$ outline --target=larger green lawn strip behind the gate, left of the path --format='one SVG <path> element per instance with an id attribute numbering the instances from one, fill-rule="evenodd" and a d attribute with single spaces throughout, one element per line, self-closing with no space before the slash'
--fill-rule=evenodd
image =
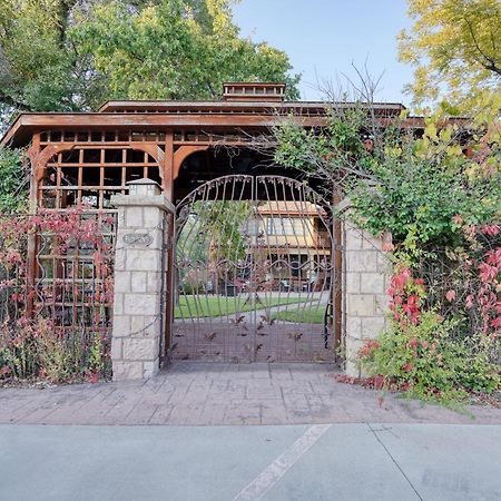
<path id="1" fill-rule="evenodd" d="M 181 296 L 179 304 L 174 310 L 176 318 L 209 317 L 230 315 L 237 312 L 249 312 L 250 310 L 262 310 L 281 304 L 304 303 L 306 298 L 297 297 L 264 297 L 263 303 L 245 303 L 243 297 L 222 296 Z"/>

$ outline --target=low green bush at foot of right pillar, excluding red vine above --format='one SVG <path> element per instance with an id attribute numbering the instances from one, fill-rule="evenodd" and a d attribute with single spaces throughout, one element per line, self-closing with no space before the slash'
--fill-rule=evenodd
<path id="1" fill-rule="evenodd" d="M 387 387 L 426 401 L 464 400 L 468 391 L 492 393 L 501 383 L 478 340 L 452 341 L 451 321 L 424 312 L 419 324 L 393 322 L 377 341 L 367 340 L 358 357 Z"/>

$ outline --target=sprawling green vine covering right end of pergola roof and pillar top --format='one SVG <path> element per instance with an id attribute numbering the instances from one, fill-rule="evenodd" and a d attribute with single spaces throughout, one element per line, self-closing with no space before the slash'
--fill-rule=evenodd
<path id="1" fill-rule="evenodd" d="M 327 110 L 327 126 L 305 130 L 287 120 L 275 128 L 275 161 L 348 196 L 358 226 L 373 235 L 391 232 L 400 257 L 433 259 L 438 248 L 464 244 L 464 225 L 501 219 L 501 128 L 498 109 L 471 120 L 443 112 L 424 120 L 422 134 L 406 116 L 384 121 L 371 105 Z"/>

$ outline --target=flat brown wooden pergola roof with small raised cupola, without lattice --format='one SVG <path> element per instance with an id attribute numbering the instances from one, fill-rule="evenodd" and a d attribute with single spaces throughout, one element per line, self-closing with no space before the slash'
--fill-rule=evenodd
<path id="1" fill-rule="evenodd" d="M 225 84 L 218 101 L 115 100 L 105 102 L 97 112 L 23 112 L 0 145 L 23 146 L 33 132 L 45 130 L 266 129 L 285 116 L 293 116 L 304 127 L 322 127 L 327 108 L 355 107 L 354 102 L 285 101 L 284 96 L 283 84 L 232 82 Z M 377 102 L 373 107 L 383 122 L 405 109 L 397 102 Z M 409 127 L 423 126 L 420 118 L 407 121 Z"/>

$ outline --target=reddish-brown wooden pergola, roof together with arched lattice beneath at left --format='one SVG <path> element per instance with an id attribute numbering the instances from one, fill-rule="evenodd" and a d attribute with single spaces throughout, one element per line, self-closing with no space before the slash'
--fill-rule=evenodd
<path id="1" fill-rule="evenodd" d="M 403 109 L 374 105 L 383 124 Z M 176 185 L 190 157 L 205 155 L 207 161 L 207 153 L 222 144 L 243 149 L 289 116 L 306 128 L 322 127 L 326 104 L 284 101 L 279 84 L 227 84 L 220 101 L 109 101 L 97 112 L 21 114 L 0 145 L 29 146 L 37 207 L 60 210 L 85 202 L 102 210 L 112 194 L 126 193 L 128 181 L 143 177 L 158 181 L 170 202 L 179 199 L 190 190 L 189 171 Z M 421 128 L 423 121 L 411 118 L 405 125 Z M 204 180 L 210 170 L 229 174 L 224 167 L 206 170 Z"/>

